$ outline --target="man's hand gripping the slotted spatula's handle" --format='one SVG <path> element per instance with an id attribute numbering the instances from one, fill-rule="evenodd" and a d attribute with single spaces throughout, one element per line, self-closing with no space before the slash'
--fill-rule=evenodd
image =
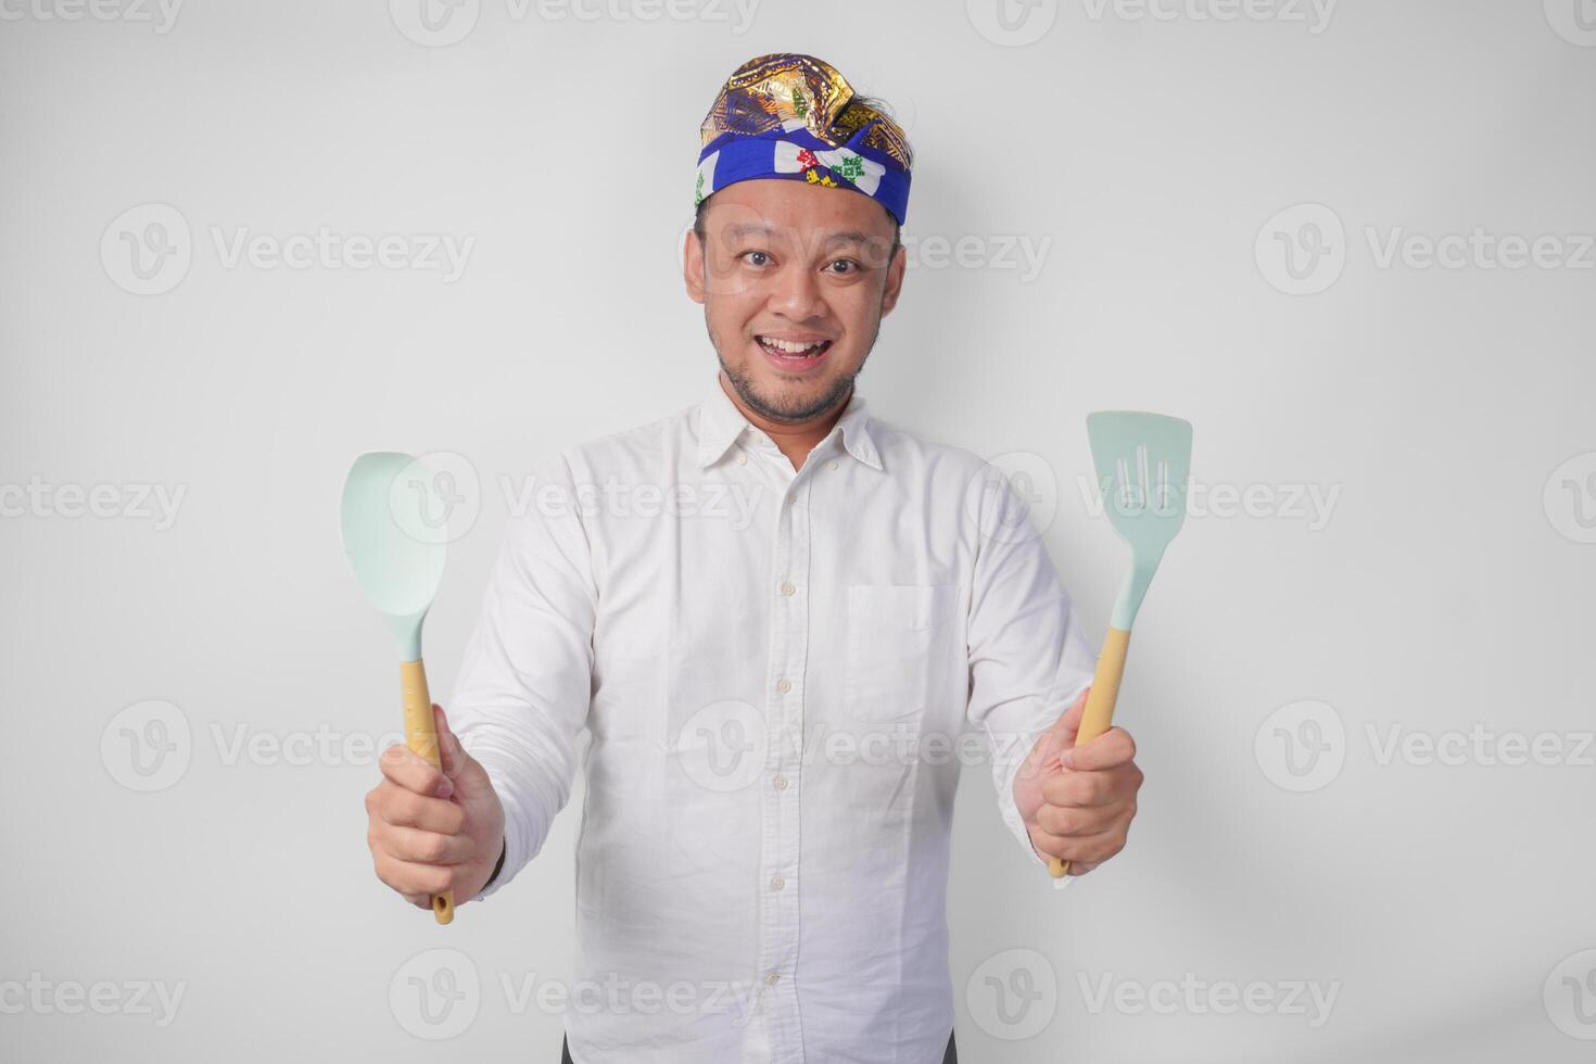
<path id="1" fill-rule="evenodd" d="M 1031 845 L 1044 858 L 1069 861 L 1069 874 L 1082 876 L 1125 849 L 1130 822 L 1136 817 L 1136 743 L 1130 732 L 1111 727 L 1076 747 L 1082 691 L 1058 723 L 1036 740 L 1013 777 Z"/>

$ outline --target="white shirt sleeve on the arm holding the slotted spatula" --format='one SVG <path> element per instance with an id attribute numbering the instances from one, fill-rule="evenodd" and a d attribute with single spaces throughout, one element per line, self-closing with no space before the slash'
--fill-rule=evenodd
<path id="1" fill-rule="evenodd" d="M 1036 740 L 1092 683 L 1095 654 L 1028 506 L 986 466 L 974 482 L 977 552 L 967 622 L 969 719 L 983 731 L 1004 823 L 1034 863 L 1013 778 Z M 1063 890 L 1074 876 L 1053 881 Z"/>

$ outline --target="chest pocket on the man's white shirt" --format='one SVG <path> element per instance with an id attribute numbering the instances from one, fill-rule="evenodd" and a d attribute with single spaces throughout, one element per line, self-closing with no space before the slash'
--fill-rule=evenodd
<path id="1" fill-rule="evenodd" d="M 954 584 L 854 584 L 847 589 L 843 705 L 859 721 L 924 715 L 958 649 Z"/>

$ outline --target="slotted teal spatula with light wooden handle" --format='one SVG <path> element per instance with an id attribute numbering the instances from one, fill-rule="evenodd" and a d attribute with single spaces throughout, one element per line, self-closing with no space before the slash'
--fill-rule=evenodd
<path id="1" fill-rule="evenodd" d="M 1098 410 L 1087 415 L 1092 464 L 1103 491 L 1103 512 L 1120 539 L 1130 544 L 1130 571 L 1119 585 L 1114 616 L 1098 654 L 1092 692 L 1080 711 L 1076 745 L 1090 742 L 1114 723 L 1114 702 L 1125 673 L 1130 625 L 1159 569 L 1163 549 L 1186 520 L 1186 480 L 1192 464 L 1191 421 L 1160 413 Z M 1069 861 L 1047 863 L 1053 879 Z"/>

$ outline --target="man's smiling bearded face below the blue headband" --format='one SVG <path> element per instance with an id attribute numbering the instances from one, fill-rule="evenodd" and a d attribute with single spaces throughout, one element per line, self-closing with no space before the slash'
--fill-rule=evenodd
<path id="1" fill-rule="evenodd" d="M 688 295 L 742 400 L 772 421 L 841 402 L 897 303 L 892 219 L 846 188 L 764 179 L 721 188 L 688 234 Z"/>

